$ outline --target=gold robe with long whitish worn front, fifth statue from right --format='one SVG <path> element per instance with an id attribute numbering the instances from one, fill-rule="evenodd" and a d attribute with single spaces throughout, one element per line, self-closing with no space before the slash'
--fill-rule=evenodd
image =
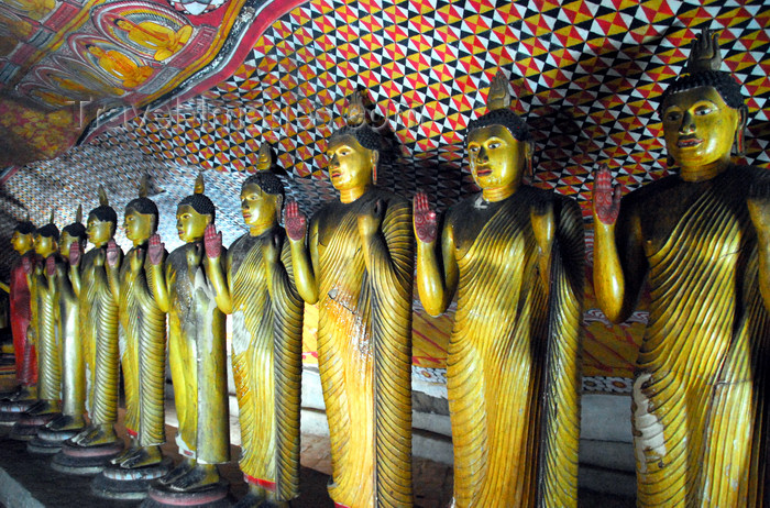
<path id="1" fill-rule="evenodd" d="M 202 245 L 198 245 L 202 253 Z M 224 314 L 217 308 L 202 264 L 188 264 L 188 243 L 166 259 L 168 361 L 174 384 L 179 452 L 201 464 L 230 460 Z M 205 254 L 202 254 L 205 255 Z"/>

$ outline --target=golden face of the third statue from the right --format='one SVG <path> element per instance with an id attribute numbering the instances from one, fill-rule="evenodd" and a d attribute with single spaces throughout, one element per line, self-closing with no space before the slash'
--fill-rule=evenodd
<path id="1" fill-rule="evenodd" d="M 329 178 L 337 190 L 350 190 L 372 184 L 378 154 L 361 146 L 352 135 L 338 137 L 327 148 Z"/>

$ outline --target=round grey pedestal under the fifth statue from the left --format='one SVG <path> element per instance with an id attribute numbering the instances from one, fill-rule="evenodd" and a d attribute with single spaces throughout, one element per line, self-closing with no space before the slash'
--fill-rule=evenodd
<path id="1" fill-rule="evenodd" d="M 160 464 L 135 468 L 110 464 L 91 482 L 91 493 L 108 499 L 144 499 L 150 485 L 173 466 L 169 457 L 164 457 Z"/>

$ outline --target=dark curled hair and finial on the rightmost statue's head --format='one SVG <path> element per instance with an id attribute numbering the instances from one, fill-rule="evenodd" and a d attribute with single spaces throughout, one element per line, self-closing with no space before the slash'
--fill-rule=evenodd
<path id="1" fill-rule="evenodd" d="M 719 70 L 721 65 L 719 34 L 713 30 L 704 29 L 692 42 L 688 64 L 684 67 L 685 74 L 679 76 L 660 96 L 658 113 L 662 113 L 663 108 L 674 93 L 700 87 L 714 88 L 725 104 L 737 110 L 744 119 L 744 124 L 739 126 L 734 144 L 737 153 L 743 154 L 745 119 L 748 113 L 746 98 L 733 75 Z"/>

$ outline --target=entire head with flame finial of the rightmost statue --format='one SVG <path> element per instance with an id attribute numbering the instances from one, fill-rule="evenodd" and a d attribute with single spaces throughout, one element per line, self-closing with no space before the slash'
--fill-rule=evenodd
<path id="1" fill-rule="evenodd" d="M 685 74 L 671 84 L 660 100 L 663 137 L 669 163 L 682 177 L 726 168 L 730 152 L 744 152 L 747 108 L 740 85 L 719 70 L 718 35 L 710 30 L 693 41 Z"/>

